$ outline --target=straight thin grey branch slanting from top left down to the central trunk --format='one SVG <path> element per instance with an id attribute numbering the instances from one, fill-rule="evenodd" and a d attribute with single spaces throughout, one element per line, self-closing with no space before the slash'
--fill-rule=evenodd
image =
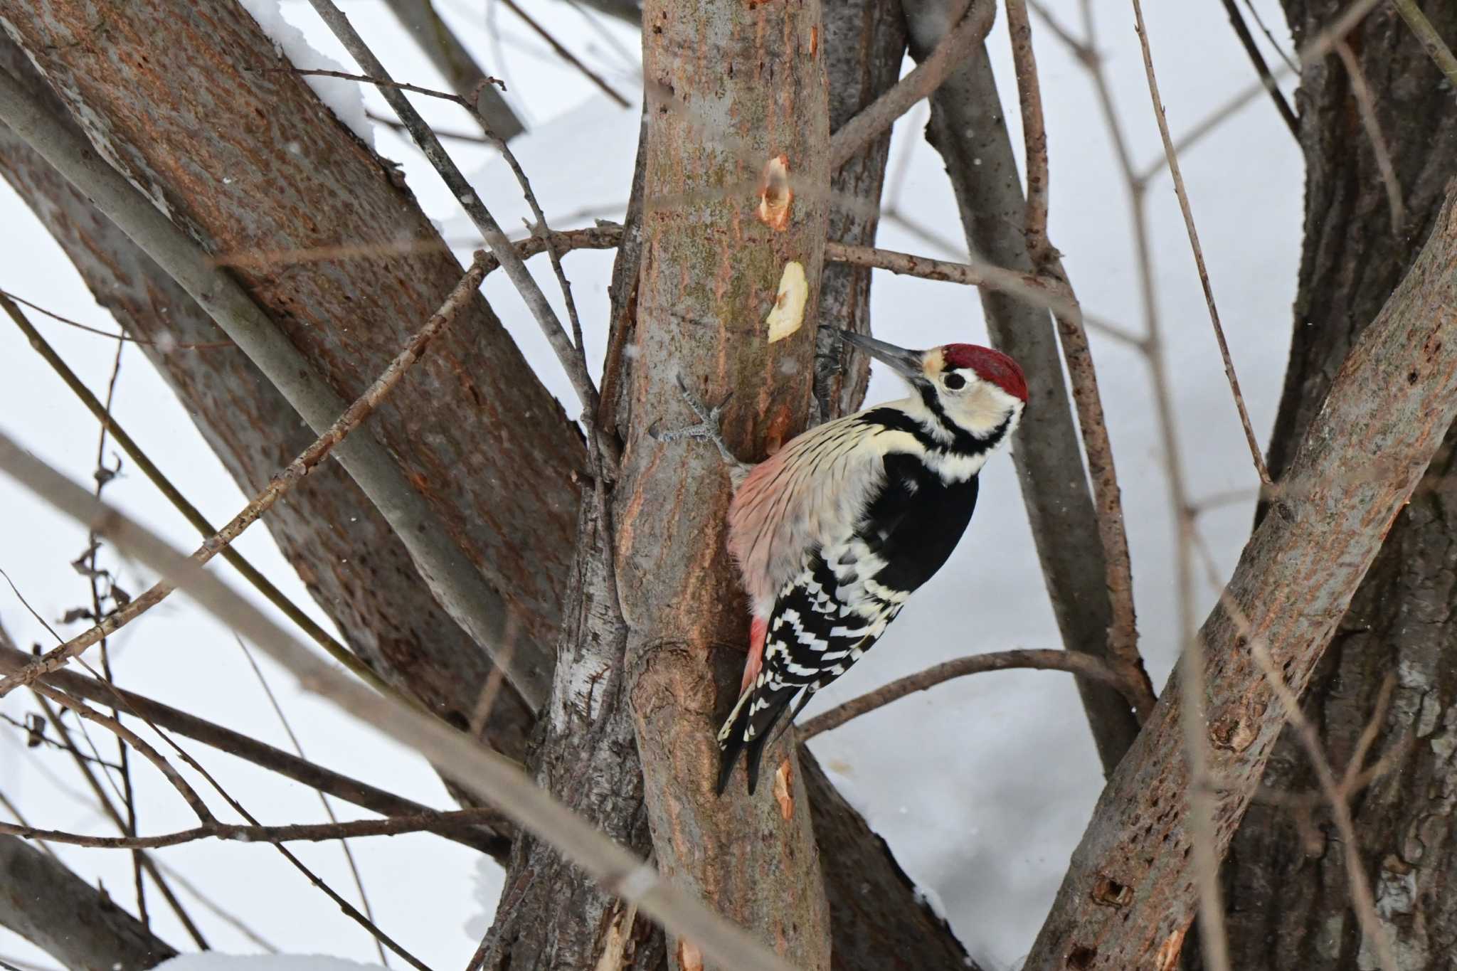
<path id="1" fill-rule="evenodd" d="M 366 74 L 372 79 L 372 83 L 380 80 L 389 82 L 389 71 L 380 64 L 374 52 L 364 44 L 364 39 L 358 32 L 350 25 L 348 17 L 344 12 L 334 3 L 334 0 L 309 0 L 313 9 L 318 12 L 319 17 L 328 25 L 334 36 L 339 39 L 344 49 L 350 52 L 360 67 L 364 68 Z M 444 181 L 446 186 L 456 197 L 460 205 L 465 208 L 471 221 L 481 231 L 481 237 L 490 247 L 491 253 L 501 262 L 501 268 L 506 275 L 511 278 L 516 285 L 517 293 L 526 303 L 526 307 L 532 312 L 536 323 L 541 326 L 542 333 L 546 336 L 546 342 L 552 345 L 552 351 L 557 354 L 558 362 L 567 371 L 567 377 L 571 379 L 573 390 L 577 392 L 577 397 L 583 408 L 592 412 L 597 411 L 597 389 L 592 383 L 592 374 L 581 367 L 577 355 L 571 346 L 571 339 L 567 336 L 565 328 L 562 328 L 561 320 L 557 317 L 557 312 L 551 309 L 551 303 L 546 301 L 546 294 L 536 284 L 530 271 L 526 269 L 526 263 L 511 247 L 511 242 L 501 231 L 500 224 L 497 224 L 495 217 L 491 215 L 490 210 L 481 202 L 481 197 L 476 195 L 475 189 L 460 173 L 460 169 L 450 159 L 450 154 L 440 144 L 440 140 L 425 124 L 425 119 L 420 116 L 409 99 L 405 98 L 402 92 L 392 86 L 380 86 L 380 93 L 389 106 L 395 109 L 399 115 L 399 121 L 404 122 L 405 128 L 409 131 L 409 137 L 414 138 L 415 144 L 424 153 L 430 165 L 434 166 L 436 172 Z"/>

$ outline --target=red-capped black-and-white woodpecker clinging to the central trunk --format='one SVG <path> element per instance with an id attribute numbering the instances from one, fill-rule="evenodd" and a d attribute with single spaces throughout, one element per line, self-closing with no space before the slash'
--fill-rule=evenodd
<path id="1" fill-rule="evenodd" d="M 734 492 L 728 552 L 753 620 L 742 693 L 718 732 L 720 795 L 745 751 L 753 793 L 769 732 L 796 696 L 787 724 L 946 563 L 972 518 L 978 473 L 1027 403 L 1021 368 L 1000 351 L 908 351 L 841 333 L 911 395 L 806 431 Z"/>

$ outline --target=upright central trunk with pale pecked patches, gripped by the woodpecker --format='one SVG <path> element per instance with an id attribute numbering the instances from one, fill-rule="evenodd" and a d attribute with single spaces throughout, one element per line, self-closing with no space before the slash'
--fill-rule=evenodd
<path id="1" fill-rule="evenodd" d="M 724 552 L 728 477 L 711 448 L 645 431 L 685 424 L 676 386 L 718 402 L 752 460 L 804 427 L 814 333 L 769 344 L 763 320 L 787 262 L 817 320 L 828 230 L 829 116 L 817 0 L 643 10 L 648 100 L 644 253 L 624 393 L 631 419 L 616 491 L 618 578 L 648 820 L 660 869 L 806 971 L 829 967 L 829 916 L 810 814 L 785 820 L 736 776 L 712 792 L 718 724 L 737 694 L 747 616 Z M 813 48 L 813 49 L 812 49 Z M 758 218 L 766 159 L 785 156 L 782 230 Z M 771 764 L 794 760 L 779 742 Z M 804 783 L 793 773 L 793 796 Z M 670 954 L 680 954 L 670 942 Z"/>

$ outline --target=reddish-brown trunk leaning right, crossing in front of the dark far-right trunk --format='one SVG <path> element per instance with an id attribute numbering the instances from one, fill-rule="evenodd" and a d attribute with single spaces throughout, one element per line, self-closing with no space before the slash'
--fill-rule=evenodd
<path id="1" fill-rule="evenodd" d="M 1294 691 L 1304 690 L 1387 530 L 1457 416 L 1457 195 L 1311 421 L 1285 498 L 1256 530 L 1227 594 Z M 1380 459 L 1383 475 L 1361 475 Z M 1234 834 L 1285 724 L 1240 625 L 1217 609 L 1199 638 L 1208 686 L 1217 852 Z M 1177 677 L 1177 673 L 1176 673 Z M 1109 780 L 1029 971 L 1152 964 L 1196 905 L 1177 691 Z M 1241 737 L 1238 745 L 1221 740 Z M 1109 905 L 1097 888 L 1131 889 Z"/>

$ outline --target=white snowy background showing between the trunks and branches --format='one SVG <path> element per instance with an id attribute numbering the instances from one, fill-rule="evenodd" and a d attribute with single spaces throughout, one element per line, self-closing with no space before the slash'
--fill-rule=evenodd
<path id="1" fill-rule="evenodd" d="M 348 64 L 303 0 L 248 0 L 299 66 Z M 1078 4 L 1049 0 L 1077 32 Z M 1177 135 L 1193 127 L 1253 79 L 1224 12 L 1214 3 L 1147 4 L 1155 64 Z M 1289 51 L 1289 36 L 1273 0 L 1257 9 Z M 592 217 L 621 217 L 637 138 L 637 112 L 622 111 L 580 74 L 565 67 L 504 7 L 468 0 L 436 0 L 436 7 L 472 48 L 476 60 L 504 77 L 513 106 L 530 131 L 514 143 L 536 192 L 557 227 L 590 224 Z M 1100 47 L 1107 57 L 1113 96 L 1138 165 L 1161 156 L 1150 109 L 1132 13 L 1123 0 L 1094 3 Z M 638 38 L 581 9 L 541 0 L 533 12 L 568 47 L 596 66 L 629 98 L 641 86 Z M 444 83 L 401 35 L 383 4 L 347 4 L 353 22 L 395 77 L 427 86 Z M 494 19 L 494 35 L 487 19 Z M 1141 329 L 1136 265 L 1128 201 L 1085 71 L 1048 28 L 1033 20 L 1042 67 L 1043 100 L 1052 159 L 1052 239 L 1084 307 Z M 299 33 L 302 32 L 302 35 Z M 300 42 L 306 38 L 306 42 Z M 1265 41 L 1262 39 L 1262 44 Z M 310 45 L 318 54 L 310 52 Z M 1016 87 L 1005 25 L 989 39 L 1013 141 L 1020 153 Z M 1266 57 L 1276 55 L 1266 45 Z M 360 112 L 389 116 L 376 92 L 325 82 L 331 106 L 356 127 Z M 469 131 L 455 106 L 415 99 L 443 128 Z M 965 258 L 960 226 L 938 156 L 925 144 L 925 109 L 896 127 L 892 181 L 896 204 L 908 217 L 944 236 L 938 250 L 896 226 L 883 226 L 880 245 L 943 258 Z M 379 151 L 401 162 L 425 210 L 452 242 L 471 245 L 469 223 L 434 172 L 390 130 L 373 127 Z M 514 182 L 490 151 L 450 143 L 474 173 L 481 198 L 503 226 L 526 214 Z M 1183 159 L 1215 296 L 1234 361 L 1262 440 L 1268 437 L 1289 344 L 1291 300 L 1300 249 L 1301 163 L 1294 140 L 1263 96 L 1252 100 Z M 246 179 L 246 172 L 236 173 Z M 1186 473 L 1196 496 L 1254 485 L 1247 448 L 1220 367 L 1199 282 L 1171 183 L 1158 176 L 1151 189 L 1154 258 L 1160 310 L 1169 336 Z M 462 253 L 466 250 L 463 249 Z M 584 313 L 587 342 L 600 355 L 605 338 L 610 253 L 574 253 L 567 269 Z M 533 263 L 548 294 L 555 293 L 545 262 Z M 102 329 L 115 329 L 70 262 L 25 204 L 0 183 L 0 287 Z M 564 402 L 570 386 L 536 325 L 500 274 L 485 287 L 497 313 Z M 876 275 L 874 326 L 881 338 L 908 346 L 947 341 L 983 341 L 976 294 L 953 284 Z M 31 314 L 47 339 L 98 393 L 105 393 L 115 344 Z M 1155 686 L 1173 659 L 1173 543 L 1167 514 L 1163 456 L 1144 361 L 1129 348 L 1093 335 L 1103 400 L 1116 451 L 1139 611 L 1142 649 Z M 185 352 L 185 351 L 179 351 Z M 898 396 L 893 379 L 877 374 L 870 399 Z M 568 411 L 573 411 L 568 405 Z M 1033 403 L 1036 408 L 1036 403 Z M 224 521 L 246 501 L 203 443 L 189 416 L 143 355 L 124 352 L 114 412 L 141 447 L 213 521 Z M 89 482 L 95 467 L 96 422 L 74 400 L 19 332 L 0 322 L 0 428 L 35 454 Z M 108 447 L 108 459 L 112 448 Z M 529 483 L 523 483 L 529 486 Z M 130 463 L 106 498 L 141 517 L 179 547 L 195 534 L 136 473 Z M 1247 536 L 1253 499 L 1202 517 L 1221 569 L 1233 566 Z M 85 547 L 85 531 L 45 504 L 0 479 L 0 569 L 31 606 L 63 636 L 79 625 L 58 625 L 68 607 L 89 600 L 86 582 L 68 562 Z M 255 527 L 242 550 L 296 603 L 325 625 L 303 585 L 268 537 Z M 122 585 L 137 592 L 150 576 L 106 553 Z M 233 585 L 252 594 L 230 568 Z M 1214 592 L 1201 590 L 1201 616 Z M 29 648 L 54 643 L 9 588 L 0 587 L 0 620 Z M 1058 646 L 1027 530 L 1011 461 L 1002 456 L 983 473 L 981 508 L 949 566 L 927 585 L 887 633 L 881 646 L 822 693 L 809 715 L 890 678 L 978 651 Z M 114 639 L 119 681 L 137 691 L 197 712 L 287 747 L 267 699 L 239 645 L 224 627 L 184 598 L 172 598 Z M 364 725 L 310 700 L 291 680 L 262 659 L 306 754 L 326 766 L 436 805 L 452 805 L 439 779 L 411 753 Z M 23 719 L 32 702 L 15 693 L 0 712 Z M 96 735 L 93 732 L 93 735 Z M 102 754 L 109 737 L 96 735 Z M 185 744 L 185 742 L 184 742 Z M 1016 967 L 1036 933 L 1101 786 L 1101 773 L 1072 681 L 1059 673 L 983 674 L 937 687 L 868 715 L 813 742 L 814 751 L 870 824 L 881 831 L 905 869 L 944 908 L 967 948 L 989 968 Z M 265 823 L 322 820 L 316 795 L 203 745 L 188 745 L 220 782 Z M 182 828 L 189 814 L 149 767 L 136 772 L 149 833 Z M 68 830 L 106 833 L 68 756 L 31 750 L 23 735 L 0 724 L 0 792 L 29 821 Z M 214 801 L 216 802 L 216 801 Z M 339 806 L 344 818 L 360 811 Z M 431 836 L 398 836 L 353 843 L 377 923 L 434 968 L 463 967 L 485 929 L 500 891 L 501 872 L 471 850 Z M 293 844 L 310 866 L 344 895 L 354 888 L 338 844 Z M 58 846 L 55 850 L 87 879 L 101 882 L 131 907 L 127 855 Z M 823 847 L 833 853 L 835 847 Z M 200 888 L 217 907 L 243 922 L 272 946 L 290 954 L 334 955 L 376 962 L 374 945 L 268 846 L 192 843 L 156 853 Z M 189 940 L 156 892 L 153 927 L 166 940 Z M 184 891 L 184 900 L 214 948 L 255 954 L 259 945 Z M 0 959 L 22 968 L 55 962 L 0 930 Z M 399 965 L 392 958 L 393 965 Z M 226 962 L 182 959 L 178 971 L 227 971 Z M 281 965 L 280 965 L 281 967 Z M 293 965 L 290 965 L 293 967 Z M 335 962 L 332 971 L 339 971 Z M 287 970 L 286 970 L 287 971 Z M 299 964 L 294 971 L 328 971 Z"/>

